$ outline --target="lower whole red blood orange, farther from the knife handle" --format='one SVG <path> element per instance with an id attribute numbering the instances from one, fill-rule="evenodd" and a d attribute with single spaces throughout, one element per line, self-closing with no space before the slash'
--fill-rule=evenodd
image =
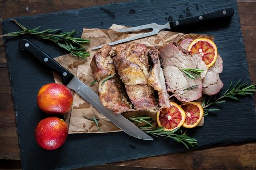
<path id="1" fill-rule="evenodd" d="M 49 117 L 41 120 L 35 130 L 37 143 L 44 149 L 59 148 L 67 139 L 68 126 L 63 119 Z"/>

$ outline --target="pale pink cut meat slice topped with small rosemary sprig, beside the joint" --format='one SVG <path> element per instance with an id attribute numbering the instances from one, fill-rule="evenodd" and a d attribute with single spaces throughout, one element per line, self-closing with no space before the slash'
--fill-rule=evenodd
<path id="1" fill-rule="evenodd" d="M 199 54 L 187 55 L 180 51 L 174 44 L 170 43 L 163 47 L 160 52 L 160 59 L 167 84 L 167 90 L 174 93 L 174 96 L 183 102 L 190 102 L 202 96 L 202 79 L 191 79 L 179 68 L 199 68 L 205 70 L 201 77 L 205 77 L 207 67 Z M 198 85 L 196 88 L 186 90 L 189 87 Z"/>

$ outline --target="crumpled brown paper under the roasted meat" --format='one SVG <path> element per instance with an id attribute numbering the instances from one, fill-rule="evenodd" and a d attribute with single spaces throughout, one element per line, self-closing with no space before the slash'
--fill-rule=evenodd
<path id="1" fill-rule="evenodd" d="M 87 59 L 82 59 L 78 57 L 73 57 L 70 54 L 59 56 L 55 58 L 64 68 L 67 68 L 75 76 L 77 76 L 81 81 L 86 85 L 89 85 L 94 77 L 91 72 L 90 63 L 92 60 L 95 51 L 92 51 L 91 48 L 117 41 L 119 39 L 135 36 L 148 32 L 149 30 L 136 31 L 132 33 L 118 33 L 113 30 L 122 29 L 125 26 L 112 25 L 110 29 L 83 29 L 82 38 L 90 39 L 90 44 L 86 45 L 88 51 L 90 52 L 90 57 Z M 162 48 L 164 45 L 173 42 L 178 44 L 185 38 L 209 38 L 213 40 L 212 36 L 201 35 L 201 34 L 183 34 L 170 31 L 160 31 L 158 35 L 141 38 L 135 40 L 137 43 L 146 44 L 147 47 L 158 46 L 158 49 Z M 127 42 L 130 44 L 131 42 Z M 115 47 L 115 46 L 113 46 Z M 61 83 L 60 77 L 54 73 L 54 79 L 57 83 Z M 91 86 L 92 90 L 98 93 L 98 83 Z M 132 115 L 143 115 L 147 114 L 151 118 L 155 119 L 155 113 L 148 113 L 142 111 L 135 111 L 130 113 L 124 113 L 123 115 L 127 118 Z M 105 118 L 101 113 L 94 109 L 88 102 L 82 99 L 78 94 L 74 93 L 74 102 L 72 106 L 71 113 L 65 115 L 65 121 L 69 124 L 69 133 L 98 133 L 98 128 L 94 121 L 91 121 L 93 116 L 98 120 L 98 125 L 100 127 L 100 132 L 116 132 L 120 131 L 113 123 L 111 123 L 107 118 Z M 88 119 L 86 119 L 88 118 Z"/>

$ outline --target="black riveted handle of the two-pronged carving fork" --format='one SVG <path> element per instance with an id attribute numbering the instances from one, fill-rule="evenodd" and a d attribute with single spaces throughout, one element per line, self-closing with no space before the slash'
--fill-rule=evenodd
<path id="1" fill-rule="evenodd" d="M 233 8 L 223 8 L 217 11 L 205 13 L 199 16 L 195 17 L 186 17 L 182 18 L 179 20 L 174 20 L 170 22 L 170 27 L 178 27 L 178 26 L 183 26 L 183 25 L 188 25 L 188 24 L 194 24 L 197 22 L 202 22 L 202 21 L 207 21 L 211 19 L 217 19 L 217 18 L 222 18 L 222 17 L 231 17 L 234 14 Z"/>

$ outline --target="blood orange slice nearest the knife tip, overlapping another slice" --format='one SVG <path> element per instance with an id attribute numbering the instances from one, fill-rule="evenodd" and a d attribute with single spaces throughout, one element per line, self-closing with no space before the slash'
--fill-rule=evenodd
<path id="1" fill-rule="evenodd" d="M 159 127 L 164 127 L 165 131 L 172 131 L 181 127 L 185 121 L 184 110 L 174 102 L 170 102 L 169 108 L 164 108 L 157 113 L 157 123 Z"/>

